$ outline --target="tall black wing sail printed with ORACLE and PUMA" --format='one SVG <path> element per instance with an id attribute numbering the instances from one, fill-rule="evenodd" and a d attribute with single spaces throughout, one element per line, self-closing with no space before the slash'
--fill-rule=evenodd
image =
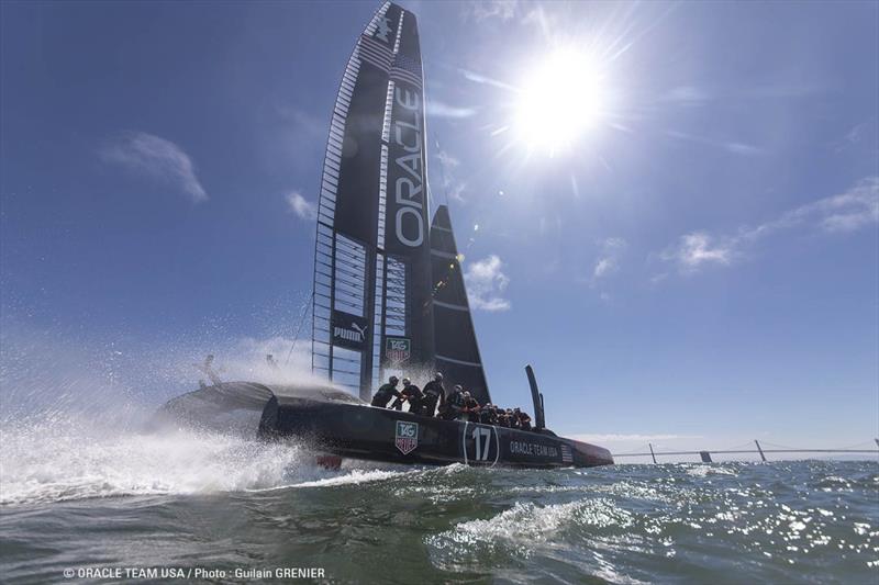
<path id="1" fill-rule="evenodd" d="M 361 398 L 433 367 L 423 88 L 415 16 L 388 2 L 342 78 L 314 247 L 312 370 Z"/>

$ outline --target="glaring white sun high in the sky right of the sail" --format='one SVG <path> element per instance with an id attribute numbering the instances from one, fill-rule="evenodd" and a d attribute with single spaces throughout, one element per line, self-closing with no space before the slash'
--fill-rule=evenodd
<path id="1" fill-rule="evenodd" d="M 555 50 L 519 87 L 516 137 L 530 150 L 555 155 L 594 128 L 604 108 L 604 75 L 596 60 L 576 49 Z"/>

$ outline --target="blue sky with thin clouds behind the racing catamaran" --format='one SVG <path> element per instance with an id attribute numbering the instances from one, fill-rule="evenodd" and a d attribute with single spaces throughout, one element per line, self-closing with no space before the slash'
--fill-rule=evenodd
<path id="1" fill-rule="evenodd" d="M 401 4 L 496 403 L 532 363 L 548 425 L 616 452 L 870 447 L 879 4 Z M 287 351 L 378 5 L 0 4 L 5 408 L 80 375 L 158 404 L 203 352 Z M 600 99 L 538 92 L 525 132 L 559 50 Z"/>

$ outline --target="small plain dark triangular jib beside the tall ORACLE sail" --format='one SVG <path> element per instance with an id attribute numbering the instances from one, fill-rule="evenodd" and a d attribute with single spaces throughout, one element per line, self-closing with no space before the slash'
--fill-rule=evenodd
<path id="1" fill-rule="evenodd" d="M 491 402 L 445 205 L 436 210 L 431 224 L 431 263 L 436 369 L 443 372 L 448 389 L 460 384 L 479 404 Z"/>

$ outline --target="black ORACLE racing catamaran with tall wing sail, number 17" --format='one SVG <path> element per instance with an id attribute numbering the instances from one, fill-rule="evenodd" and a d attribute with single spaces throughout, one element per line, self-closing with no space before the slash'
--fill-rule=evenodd
<path id="1" fill-rule="evenodd" d="M 325 384 L 215 380 L 168 402 L 176 418 L 315 452 L 396 463 L 525 468 L 612 464 L 546 428 L 526 368 L 533 430 L 379 408 L 385 379 L 444 374 L 491 402 L 446 205 L 430 218 L 424 76 L 412 12 L 385 3 L 348 58 L 330 122 L 318 204 L 312 370 Z"/>

